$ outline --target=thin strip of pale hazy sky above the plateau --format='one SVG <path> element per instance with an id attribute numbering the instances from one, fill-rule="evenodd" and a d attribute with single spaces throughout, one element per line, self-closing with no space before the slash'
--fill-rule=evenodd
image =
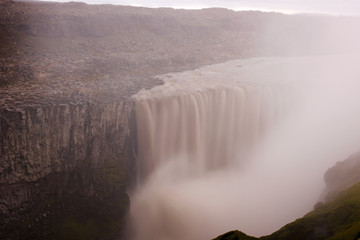
<path id="1" fill-rule="evenodd" d="M 54 1 L 54 0 L 51 0 Z M 67 1 L 67 0 L 60 0 Z M 209 8 L 223 7 L 234 10 L 263 10 L 285 13 L 326 13 L 335 15 L 360 15 L 360 0 L 73 0 L 86 3 L 111 3 L 118 5 Z"/>

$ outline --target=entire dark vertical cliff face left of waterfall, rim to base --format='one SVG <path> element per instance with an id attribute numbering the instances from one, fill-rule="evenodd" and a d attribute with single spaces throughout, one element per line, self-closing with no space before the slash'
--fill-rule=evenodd
<path id="1" fill-rule="evenodd" d="M 123 221 L 134 175 L 133 114 L 130 101 L 2 110 L 2 238 L 62 236 L 61 224 L 78 231 L 74 224 L 91 220 L 97 229 L 99 216 L 102 230 Z"/>

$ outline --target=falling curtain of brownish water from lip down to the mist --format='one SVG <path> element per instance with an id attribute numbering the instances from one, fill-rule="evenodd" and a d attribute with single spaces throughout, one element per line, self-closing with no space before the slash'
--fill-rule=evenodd
<path id="1" fill-rule="evenodd" d="M 241 162 L 285 111 L 279 96 L 278 88 L 247 85 L 142 93 L 136 99 L 140 178 L 176 157 L 198 173 Z"/>

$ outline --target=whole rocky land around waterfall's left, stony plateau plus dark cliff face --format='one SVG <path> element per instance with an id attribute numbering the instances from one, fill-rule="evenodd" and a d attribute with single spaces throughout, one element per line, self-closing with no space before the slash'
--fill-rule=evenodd
<path id="1" fill-rule="evenodd" d="M 115 238 L 136 175 L 130 97 L 161 73 L 324 52 L 323 27 L 276 13 L 0 1 L 0 238 Z"/>

